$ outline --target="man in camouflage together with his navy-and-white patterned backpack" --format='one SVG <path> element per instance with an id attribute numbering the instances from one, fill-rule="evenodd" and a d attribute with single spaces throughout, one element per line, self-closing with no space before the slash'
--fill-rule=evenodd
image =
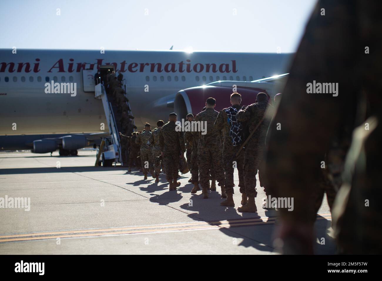
<path id="1" fill-rule="evenodd" d="M 240 145 L 244 142 L 243 125 L 236 120 L 236 114 L 241 109 L 241 95 L 239 93 L 231 94 L 231 107 L 223 108 L 217 115 L 214 127 L 223 135 L 223 167 L 225 171 L 225 192 L 227 200 L 220 203 L 222 206 L 235 206 L 233 201 L 233 170 L 234 162 L 239 172 L 239 187 L 241 193 L 241 205 L 247 202 L 247 195 L 244 187 L 244 151 L 241 151 L 238 157 L 235 157 Z"/>

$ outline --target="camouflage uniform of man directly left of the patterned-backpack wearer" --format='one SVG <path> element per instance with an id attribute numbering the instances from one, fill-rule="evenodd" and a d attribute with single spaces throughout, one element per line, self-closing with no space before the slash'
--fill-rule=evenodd
<path id="1" fill-rule="evenodd" d="M 222 164 L 222 143 L 219 131 L 215 130 L 214 123 L 217 112 L 213 108 L 207 108 L 196 115 L 195 121 L 207 122 L 206 135 L 201 132 L 192 132 L 193 135 L 199 135 L 197 145 L 199 182 L 202 188 L 209 188 L 210 169 L 215 172 L 219 185 L 224 185 L 225 177 Z M 211 173 L 214 174 L 213 172 Z"/>

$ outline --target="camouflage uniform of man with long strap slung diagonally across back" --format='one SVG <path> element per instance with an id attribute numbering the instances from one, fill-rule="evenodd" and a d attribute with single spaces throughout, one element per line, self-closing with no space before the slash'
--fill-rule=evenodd
<path id="1" fill-rule="evenodd" d="M 267 101 L 256 102 L 243 109 L 240 109 L 237 114 L 237 120 L 247 122 L 249 132 L 253 132 L 256 125 L 263 118 L 268 105 Z M 244 183 L 245 193 L 248 197 L 256 197 L 256 174 L 261 165 L 261 161 L 265 149 L 265 136 L 269 126 L 270 118 L 265 118 L 256 132 L 251 136 L 245 146 L 244 153 Z M 241 151 L 243 153 L 243 151 Z"/>

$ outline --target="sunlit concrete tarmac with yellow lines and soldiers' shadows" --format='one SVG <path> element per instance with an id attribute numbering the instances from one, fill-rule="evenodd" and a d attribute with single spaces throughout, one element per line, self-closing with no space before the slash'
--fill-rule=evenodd
<path id="1" fill-rule="evenodd" d="M 261 208 L 258 181 L 258 213 L 238 213 L 236 171 L 236 206 L 227 208 L 219 205 L 218 186 L 208 200 L 201 191 L 192 195 L 189 173 L 168 191 L 164 174 L 156 184 L 137 170 L 94 167 L 95 154 L 0 153 L 0 198 L 30 198 L 29 211 L 0 208 L 0 254 L 276 253 L 276 211 Z M 315 224 L 317 254 L 335 253 L 330 225 L 325 199 Z"/>

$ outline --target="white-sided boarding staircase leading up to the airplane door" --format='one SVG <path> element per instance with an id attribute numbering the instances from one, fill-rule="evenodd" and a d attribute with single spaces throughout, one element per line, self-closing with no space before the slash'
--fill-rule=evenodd
<path id="1" fill-rule="evenodd" d="M 123 80 L 122 87 L 126 93 L 126 80 Z M 119 162 L 121 163 L 121 165 L 123 165 L 122 153 L 121 153 L 122 149 L 121 149 L 121 143 L 120 143 L 120 137 L 119 137 L 119 132 L 122 132 L 122 125 L 120 122 L 121 116 L 120 114 L 118 114 L 117 102 L 115 101 L 112 93 L 108 93 L 108 94 L 106 93 L 105 87 L 102 83 L 95 85 L 94 93 L 95 93 L 96 99 L 102 99 L 102 105 L 104 107 L 106 121 L 109 128 L 109 133 L 110 133 L 110 141 L 111 141 L 111 144 L 113 145 L 113 146 L 109 146 L 110 147 L 109 152 L 110 150 L 113 150 L 114 156 L 110 156 L 112 154 L 108 153 L 108 156 L 106 156 L 106 158 L 108 158 L 107 159 L 108 161 L 112 161 L 115 164 Z M 126 102 L 126 104 L 128 105 L 128 108 L 129 108 L 128 114 L 133 116 L 133 112 L 131 111 L 131 106 L 129 102 Z M 132 120 L 132 122 L 133 122 L 133 125 L 135 125 L 134 119 Z M 113 158 L 115 160 L 113 160 Z"/>

